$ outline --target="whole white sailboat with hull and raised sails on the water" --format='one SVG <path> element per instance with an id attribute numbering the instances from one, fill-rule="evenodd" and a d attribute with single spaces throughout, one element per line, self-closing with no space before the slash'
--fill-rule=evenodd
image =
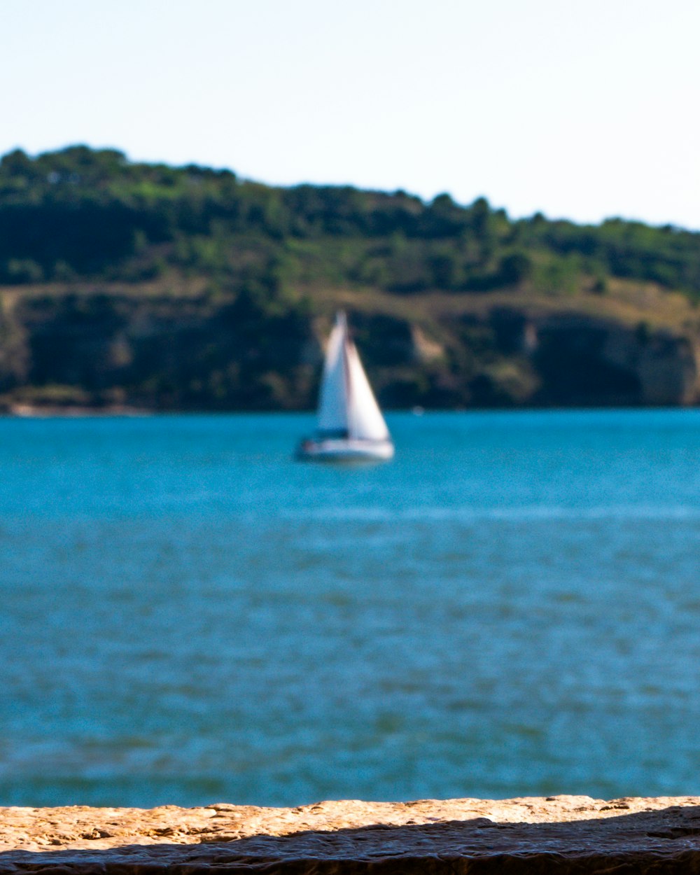
<path id="1" fill-rule="evenodd" d="M 347 319 L 335 318 L 325 353 L 318 402 L 318 427 L 299 445 L 297 458 L 319 462 L 384 461 L 394 455 L 387 423 L 347 333 Z"/>

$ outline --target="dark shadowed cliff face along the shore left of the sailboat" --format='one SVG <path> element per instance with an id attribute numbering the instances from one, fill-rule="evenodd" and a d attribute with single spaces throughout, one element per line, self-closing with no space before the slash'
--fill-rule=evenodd
<path id="1" fill-rule="evenodd" d="M 26 298 L 5 325 L 0 386 L 10 405 L 298 409 L 321 355 L 295 312 L 264 330 L 241 302 L 206 296 Z"/>

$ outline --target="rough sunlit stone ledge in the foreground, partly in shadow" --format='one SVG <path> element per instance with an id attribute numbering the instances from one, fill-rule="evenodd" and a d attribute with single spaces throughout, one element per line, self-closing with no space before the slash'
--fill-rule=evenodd
<path id="1" fill-rule="evenodd" d="M 4 808 L 0 872 L 700 873 L 700 797 Z"/>

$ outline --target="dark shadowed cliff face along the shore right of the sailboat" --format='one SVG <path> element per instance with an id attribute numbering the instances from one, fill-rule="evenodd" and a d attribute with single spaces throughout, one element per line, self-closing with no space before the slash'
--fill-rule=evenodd
<path id="1" fill-rule="evenodd" d="M 442 318 L 442 342 L 397 318 L 383 330 L 371 320 L 360 325 L 362 348 L 389 403 L 676 406 L 700 400 L 697 341 L 645 323 L 495 307 L 478 317 Z"/>

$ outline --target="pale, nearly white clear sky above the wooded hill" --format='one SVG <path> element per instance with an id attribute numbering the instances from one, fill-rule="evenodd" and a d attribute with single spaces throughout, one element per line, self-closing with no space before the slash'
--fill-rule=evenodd
<path id="1" fill-rule="evenodd" d="M 700 229 L 698 0 L 2 0 L 0 152 Z"/>

